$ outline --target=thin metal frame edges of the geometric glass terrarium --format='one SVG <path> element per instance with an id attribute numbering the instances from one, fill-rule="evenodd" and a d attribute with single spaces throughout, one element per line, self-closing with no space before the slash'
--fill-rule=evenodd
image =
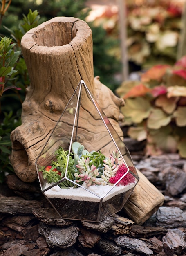
<path id="1" fill-rule="evenodd" d="M 68 177 L 67 177 L 67 168 L 68 168 L 68 164 L 69 164 L 69 156 L 70 154 L 68 155 L 68 158 L 67 158 L 67 168 L 65 170 L 65 177 L 63 177 L 60 181 L 54 183 L 54 184 L 51 184 L 50 186 L 48 186 L 47 188 L 44 188 L 44 183 L 45 181 L 42 180 L 42 176 L 41 176 L 41 173 L 39 173 L 38 171 L 38 159 L 40 158 L 40 156 L 42 155 L 43 153 L 43 150 L 45 149 L 45 146 L 47 145 L 47 143 L 49 142 L 49 140 L 51 139 L 51 136 L 53 135 L 53 132 L 54 130 L 56 129 L 56 127 L 58 126 L 59 122 L 61 121 L 61 119 L 63 118 L 63 115 L 65 113 L 65 111 L 67 111 L 67 109 L 69 108 L 70 106 L 70 102 L 72 101 L 74 95 L 78 92 L 78 98 L 77 98 L 77 104 L 76 104 L 76 110 L 75 110 L 75 114 L 74 114 L 74 122 L 73 122 L 73 127 L 72 127 L 72 135 L 71 135 L 71 138 L 70 138 L 70 141 L 69 141 L 69 153 L 71 152 L 71 147 L 72 147 L 72 143 L 74 141 L 74 133 L 75 133 L 75 141 L 77 141 L 77 137 L 78 137 L 78 122 L 79 122 L 79 113 L 80 113 L 80 106 L 81 106 L 81 94 L 82 94 L 82 87 L 84 87 L 88 97 L 90 98 L 90 100 L 92 101 L 92 103 L 94 104 L 94 107 L 96 108 L 96 111 L 99 113 L 99 116 L 101 117 L 101 120 L 103 121 L 103 124 L 108 132 L 108 134 L 110 135 L 111 139 L 112 139 L 112 142 L 114 143 L 115 147 L 117 148 L 121 158 L 122 158 L 122 161 L 123 163 L 125 164 L 125 166 L 127 167 L 127 172 L 113 185 L 113 186 L 110 186 L 111 188 L 103 195 L 98 195 L 92 191 L 90 191 L 89 189 L 87 189 L 86 187 L 82 187 L 80 184 L 77 184 L 76 181 L 74 180 L 70 180 Z M 78 91 L 79 89 L 79 91 Z M 108 125 L 110 126 L 112 130 L 112 132 L 110 131 L 110 129 L 108 128 Z M 75 131 L 75 132 L 74 132 Z M 122 154 L 112 133 L 115 133 L 115 135 L 117 135 L 117 139 L 119 139 L 119 141 L 122 143 L 122 146 L 124 147 L 125 149 L 125 154 Z M 85 191 L 88 191 L 89 193 L 93 194 L 94 196 L 96 196 L 97 198 L 100 199 L 99 201 L 99 209 L 98 209 L 98 212 L 97 212 L 97 215 L 95 217 L 95 219 L 90 219 L 89 216 L 84 216 L 83 218 L 71 218 L 71 216 L 64 216 L 64 215 L 61 215 L 61 213 L 58 211 L 58 209 L 56 209 L 56 206 L 54 205 L 54 203 L 51 202 L 51 199 L 49 199 L 46 195 L 45 197 L 47 198 L 47 200 L 49 200 L 49 202 L 52 204 L 52 206 L 54 207 L 54 209 L 56 209 L 56 211 L 58 212 L 58 214 L 62 217 L 62 218 L 66 218 L 66 219 L 78 219 L 78 220 L 88 220 L 88 221 L 92 221 L 92 222 L 99 222 L 111 215 L 113 215 L 114 213 L 117 213 L 118 211 L 120 211 L 121 209 L 117 209 L 117 211 L 113 211 L 112 213 L 109 213 L 108 215 L 105 215 L 105 216 L 101 216 L 101 210 L 102 210 L 102 205 L 103 205 L 103 199 L 106 198 L 106 196 L 110 193 L 110 191 L 112 191 L 112 189 L 117 186 L 117 184 L 119 184 L 119 182 L 123 179 L 123 177 L 125 177 L 128 173 L 131 173 L 134 178 L 135 178 L 135 185 L 129 189 L 128 191 L 126 192 L 123 192 L 125 193 L 125 202 L 127 201 L 127 199 L 129 198 L 130 194 L 132 193 L 134 187 L 136 186 L 138 180 L 139 180 L 139 177 L 137 176 L 137 171 L 136 171 L 136 168 L 133 164 L 133 161 L 132 161 L 132 158 L 130 156 L 130 153 L 128 151 L 128 149 L 126 148 L 125 144 L 123 143 L 123 141 L 121 140 L 121 138 L 119 137 L 119 135 L 117 134 L 117 132 L 114 130 L 114 128 L 112 127 L 112 124 L 110 124 L 110 121 L 108 120 L 108 117 L 106 117 L 106 115 L 104 114 L 103 110 L 101 109 L 101 107 L 99 106 L 99 104 L 96 102 L 96 100 L 94 99 L 94 96 L 91 94 L 90 90 L 87 88 L 87 85 L 85 84 L 85 82 L 83 80 L 81 80 L 77 86 L 77 88 L 74 90 L 74 93 L 72 94 L 72 97 L 70 98 L 69 102 L 67 103 L 67 106 L 65 107 L 65 109 L 63 110 L 63 113 L 61 114 L 60 118 L 58 119 L 58 121 L 56 122 L 56 125 L 54 126 L 54 129 L 52 130 L 51 134 L 49 135 L 49 138 L 47 139 L 47 142 L 45 143 L 45 146 L 43 147 L 43 149 L 41 150 L 38 158 L 36 159 L 36 162 L 35 162 L 35 165 L 36 165 L 36 170 L 37 170 L 37 173 L 38 173 L 38 177 L 39 177 L 39 182 L 40 182 L 40 187 L 41 187 L 41 190 L 42 190 L 42 193 L 45 195 L 45 192 L 48 191 L 49 189 L 52 189 L 54 186 L 57 186 L 59 183 L 63 182 L 64 180 L 68 180 L 70 182 L 73 182 L 74 184 L 76 184 L 76 186 L 80 187 L 80 188 L 83 188 Z M 133 167 L 134 167 L 134 172 L 132 172 L 129 167 L 128 167 L 128 164 L 127 162 L 125 161 L 124 157 L 128 157 L 128 159 L 130 159 Z M 46 183 L 45 183 L 46 184 Z M 112 197 L 111 197 L 112 198 Z M 70 199 L 69 199 L 70 200 Z M 123 199 L 124 201 L 124 199 Z M 107 201 L 106 201 L 107 202 Z M 123 202 L 121 208 L 123 208 L 123 205 L 125 204 L 125 202 Z"/>

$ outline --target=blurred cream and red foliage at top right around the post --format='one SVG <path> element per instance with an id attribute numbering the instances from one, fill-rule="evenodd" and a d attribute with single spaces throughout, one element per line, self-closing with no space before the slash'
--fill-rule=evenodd
<path id="1" fill-rule="evenodd" d="M 96 2 L 96 1 L 94 1 Z M 185 0 L 125 0 L 129 73 L 155 64 L 173 64 L 177 59 Z M 118 38 L 118 7 L 105 6 L 94 17 L 108 36 Z M 124 28 L 123 28 L 124 29 Z M 115 54 L 121 56 L 120 45 Z"/>

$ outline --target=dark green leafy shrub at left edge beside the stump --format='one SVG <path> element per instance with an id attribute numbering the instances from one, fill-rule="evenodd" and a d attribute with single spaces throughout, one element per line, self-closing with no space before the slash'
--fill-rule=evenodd
<path id="1" fill-rule="evenodd" d="M 12 43 L 12 39 L 6 36 L 0 40 L 0 183 L 4 181 L 6 173 L 13 172 L 9 161 L 10 133 L 21 124 L 21 103 L 25 95 L 19 91 L 24 93 L 29 84 L 27 67 L 21 55 L 20 40 L 29 29 L 38 25 L 38 20 L 38 12 L 30 10 L 28 15 L 23 17 L 18 29 L 10 30 L 17 43 Z M 15 99 L 20 101 L 20 105 L 17 105 Z"/>

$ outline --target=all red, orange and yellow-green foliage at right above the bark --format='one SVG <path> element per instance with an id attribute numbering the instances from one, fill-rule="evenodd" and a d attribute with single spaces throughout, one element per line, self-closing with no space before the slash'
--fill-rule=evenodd
<path id="1" fill-rule="evenodd" d="M 186 158 L 186 1 L 125 3 L 129 74 L 115 90 L 125 99 L 124 136 L 145 142 L 146 155 L 168 152 Z M 94 24 L 118 38 L 119 14 L 115 6 L 105 7 L 94 15 Z M 119 59 L 121 52 L 120 45 L 112 49 Z"/>

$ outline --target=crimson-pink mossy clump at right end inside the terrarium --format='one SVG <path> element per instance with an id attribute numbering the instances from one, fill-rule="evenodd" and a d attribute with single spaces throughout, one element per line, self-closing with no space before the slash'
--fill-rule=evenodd
<path id="1" fill-rule="evenodd" d="M 127 167 L 125 164 L 119 165 L 118 171 L 114 177 L 111 177 L 109 182 L 115 184 L 125 173 L 127 172 Z M 131 173 L 127 173 L 123 179 L 118 182 L 117 186 L 123 185 L 126 186 L 130 183 L 134 183 L 135 178 Z"/>

